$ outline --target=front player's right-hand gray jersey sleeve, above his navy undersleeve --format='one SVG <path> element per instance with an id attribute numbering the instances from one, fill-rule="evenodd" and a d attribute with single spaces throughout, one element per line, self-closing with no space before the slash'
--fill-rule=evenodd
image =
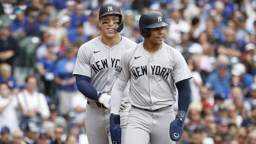
<path id="1" fill-rule="evenodd" d="M 183 58 L 182 54 L 178 52 L 177 50 L 174 51 L 174 70 L 173 70 L 173 79 L 174 82 L 177 83 L 181 80 L 185 79 L 191 79 L 192 74 L 190 69 L 188 68 L 188 65 L 186 63 L 186 60 Z"/>

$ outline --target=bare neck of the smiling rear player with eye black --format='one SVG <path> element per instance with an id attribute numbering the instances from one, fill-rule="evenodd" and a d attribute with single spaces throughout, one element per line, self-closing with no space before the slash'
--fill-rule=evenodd
<path id="1" fill-rule="evenodd" d="M 104 34 L 100 36 L 101 42 L 110 48 L 118 44 L 121 41 L 121 39 L 122 37 L 119 35 L 119 33 L 112 38 L 109 38 Z"/>

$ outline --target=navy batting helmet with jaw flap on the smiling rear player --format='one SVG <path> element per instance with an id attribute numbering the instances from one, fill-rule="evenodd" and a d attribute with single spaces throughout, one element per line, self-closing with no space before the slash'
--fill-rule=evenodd
<path id="1" fill-rule="evenodd" d="M 123 30 L 123 22 L 124 18 L 121 15 L 120 9 L 116 4 L 113 3 L 107 3 L 101 6 L 100 12 L 99 12 L 99 19 L 102 16 L 109 15 L 109 14 L 117 14 L 119 15 L 119 26 L 117 26 L 116 30 L 117 32 L 121 32 Z"/>

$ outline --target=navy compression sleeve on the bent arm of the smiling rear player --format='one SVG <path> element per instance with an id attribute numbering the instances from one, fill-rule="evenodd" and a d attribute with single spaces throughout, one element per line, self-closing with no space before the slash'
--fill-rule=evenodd
<path id="1" fill-rule="evenodd" d="M 102 94 L 98 92 L 94 86 L 91 85 L 90 80 L 91 78 L 84 75 L 75 75 L 76 77 L 76 85 L 78 90 L 86 97 L 90 98 L 91 100 L 98 101 L 98 98 Z"/>

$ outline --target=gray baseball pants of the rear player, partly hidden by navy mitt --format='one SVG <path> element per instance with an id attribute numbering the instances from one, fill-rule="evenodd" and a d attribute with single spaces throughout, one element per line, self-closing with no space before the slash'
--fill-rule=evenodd
<path id="1" fill-rule="evenodd" d="M 122 144 L 126 133 L 127 117 L 131 105 L 120 112 L 120 126 L 122 128 Z M 86 105 L 85 127 L 89 144 L 112 144 L 110 137 L 110 110 L 99 108 L 95 102 Z"/>

